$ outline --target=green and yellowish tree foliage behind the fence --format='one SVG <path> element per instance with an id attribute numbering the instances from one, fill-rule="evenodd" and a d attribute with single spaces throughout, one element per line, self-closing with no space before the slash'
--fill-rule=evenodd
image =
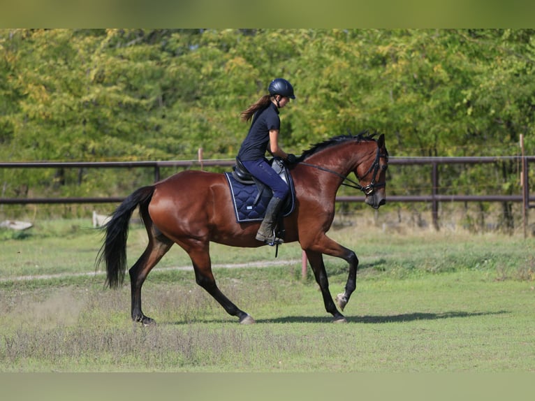
<path id="1" fill-rule="evenodd" d="M 362 129 L 386 133 L 392 156 L 518 154 L 520 134 L 532 154 L 534 44 L 532 29 L 2 29 L 0 159 L 233 158 L 240 111 L 277 76 L 295 86 L 281 112 L 295 154 Z M 3 196 L 98 191 L 94 170 L 63 174 L 2 171 Z M 495 176 L 518 187 L 513 165 L 441 180 L 462 192 Z"/>

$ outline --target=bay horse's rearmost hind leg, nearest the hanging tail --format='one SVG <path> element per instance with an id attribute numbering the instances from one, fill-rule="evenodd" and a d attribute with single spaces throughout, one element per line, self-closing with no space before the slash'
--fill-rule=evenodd
<path id="1" fill-rule="evenodd" d="M 131 296 L 132 296 L 132 320 L 143 323 L 145 326 L 154 324 L 154 320 L 145 316 L 141 310 L 141 287 L 149 275 L 150 270 L 160 261 L 163 255 L 173 246 L 173 241 L 158 234 L 154 229 L 149 231 L 149 245 L 129 270 Z"/>

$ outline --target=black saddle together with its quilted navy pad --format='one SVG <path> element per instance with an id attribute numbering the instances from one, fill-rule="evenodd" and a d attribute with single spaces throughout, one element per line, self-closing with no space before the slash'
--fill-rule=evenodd
<path id="1" fill-rule="evenodd" d="M 290 188 L 290 193 L 286 197 L 281 212 L 281 217 L 286 217 L 293 212 L 295 206 L 293 180 L 281 159 L 273 158 L 269 163 L 273 170 L 279 174 Z M 256 180 L 247 171 L 247 168 L 245 168 L 240 159 L 236 159 L 232 173 L 225 173 L 225 175 L 230 188 L 230 195 L 233 199 L 236 221 L 238 223 L 262 221 L 265 216 L 265 210 L 273 195 L 270 187 Z"/>

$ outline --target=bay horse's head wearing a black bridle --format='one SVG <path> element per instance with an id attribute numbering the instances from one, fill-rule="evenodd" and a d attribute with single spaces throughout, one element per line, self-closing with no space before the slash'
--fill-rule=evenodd
<path id="1" fill-rule="evenodd" d="M 365 203 L 374 209 L 379 209 L 386 203 L 386 169 L 388 168 L 388 151 L 385 146 L 385 136 L 381 133 L 376 141 L 377 147 L 368 159 L 357 167 L 358 177 Z"/>

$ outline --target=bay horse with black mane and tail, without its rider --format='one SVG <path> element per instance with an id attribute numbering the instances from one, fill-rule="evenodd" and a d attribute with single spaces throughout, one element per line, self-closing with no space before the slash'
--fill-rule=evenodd
<path id="1" fill-rule="evenodd" d="M 288 166 L 295 187 L 295 208 L 284 217 L 285 242 L 300 243 L 321 289 L 325 310 L 336 323 L 346 322 L 344 311 L 356 289 L 358 258 L 354 251 L 330 239 L 326 232 L 335 217 L 335 196 L 344 184 L 360 189 L 365 203 L 379 209 L 386 203 L 388 151 L 384 134 L 362 131 L 336 136 L 312 145 Z M 358 182 L 348 175 L 353 172 Z M 261 247 L 255 239 L 260 223 L 238 223 L 223 173 L 184 170 L 127 196 L 103 226 L 104 238 L 97 255 L 97 267 L 105 263 L 106 284 L 117 289 L 126 275 L 126 240 L 129 220 L 139 207 L 148 244 L 129 269 L 131 282 L 131 318 L 145 326 L 154 324 L 141 309 L 141 288 L 147 275 L 167 251 L 177 244 L 191 258 L 196 284 L 219 302 L 242 324 L 255 320 L 238 308 L 218 288 L 210 261 L 210 242 L 230 247 Z M 344 259 L 349 275 L 344 293 L 333 299 L 323 263 L 323 254 Z M 335 301 L 337 305 L 335 304 Z"/>

